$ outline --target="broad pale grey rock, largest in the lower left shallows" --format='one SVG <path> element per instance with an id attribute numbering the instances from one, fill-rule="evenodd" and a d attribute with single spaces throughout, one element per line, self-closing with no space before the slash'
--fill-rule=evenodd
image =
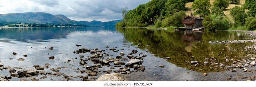
<path id="1" fill-rule="evenodd" d="M 35 68 L 26 67 L 22 70 L 19 70 L 17 73 L 18 73 L 18 75 L 25 75 L 25 74 L 34 75 L 35 73 L 38 73 L 38 72 L 39 71 L 36 70 Z"/>

